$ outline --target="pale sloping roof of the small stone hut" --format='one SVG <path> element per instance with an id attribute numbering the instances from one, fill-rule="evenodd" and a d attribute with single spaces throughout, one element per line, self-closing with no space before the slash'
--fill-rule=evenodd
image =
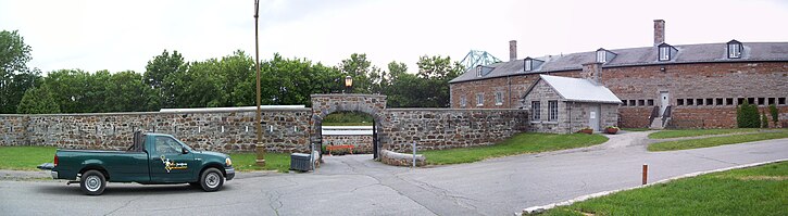
<path id="1" fill-rule="evenodd" d="M 539 79 L 555 90 L 561 98 L 567 101 L 577 102 L 596 102 L 596 103 L 621 103 L 621 99 L 616 97 L 608 87 L 595 85 L 588 79 L 539 75 Z M 534 82 L 524 96 L 530 93 L 536 84 Z"/>

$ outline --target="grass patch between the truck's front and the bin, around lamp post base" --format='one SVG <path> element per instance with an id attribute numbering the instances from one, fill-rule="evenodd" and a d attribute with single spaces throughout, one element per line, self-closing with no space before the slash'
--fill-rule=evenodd
<path id="1" fill-rule="evenodd" d="M 287 173 L 290 169 L 290 154 L 287 153 L 265 153 L 265 167 L 257 165 L 258 155 L 253 152 L 230 153 L 229 157 L 233 158 L 233 166 L 238 171 L 277 170 Z"/>

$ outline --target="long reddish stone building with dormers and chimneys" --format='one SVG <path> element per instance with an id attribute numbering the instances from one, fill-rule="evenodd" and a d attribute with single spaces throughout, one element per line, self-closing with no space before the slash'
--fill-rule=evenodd
<path id="1" fill-rule="evenodd" d="M 539 75 L 596 76 L 621 99 L 621 127 L 736 127 L 745 100 L 761 112 L 777 105 L 777 126 L 788 127 L 788 42 L 670 45 L 662 20 L 654 21 L 653 39 L 650 47 L 525 59 L 516 59 L 510 41 L 509 62 L 479 65 L 450 81 L 451 106 L 520 109 Z"/>

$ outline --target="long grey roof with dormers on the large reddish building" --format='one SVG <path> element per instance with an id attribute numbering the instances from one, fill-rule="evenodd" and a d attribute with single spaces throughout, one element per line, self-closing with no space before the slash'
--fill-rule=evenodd
<path id="1" fill-rule="evenodd" d="M 741 52 L 741 58 L 739 59 L 727 58 L 727 43 L 673 46 L 676 50 L 678 50 L 678 52 L 675 56 L 672 56 L 671 61 L 665 62 L 660 62 L 658 60 L 656 47 L 608 50 L 616 55 L 611 61 L 602 64 L 602 67 L 708 62 L 788 62 L 788 42 L 742 42 L 741 45 L 743 46 L 743 50 Z M 523 60 L 515 60 L 485 65 L 493 67 L 493 69 L 481 77 L 476 76 L 476 68 L 470 68 L 449 82 L 454 84 L 503 76 L 583 69 L 583 64 L 596 61 L 596 51 L 548 55 L 534 59 L 543 61 L 543 63 L 538 67 L 533 68 L 530 72 L 524 71 Z"/>

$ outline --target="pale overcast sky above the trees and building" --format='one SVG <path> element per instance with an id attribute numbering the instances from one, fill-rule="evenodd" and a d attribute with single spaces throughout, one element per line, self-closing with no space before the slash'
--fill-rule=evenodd
<path id="1" fill-rule="evenodd" d="M 187 61 L 254 53 L 253 0 L 0 0 L 0 29 L 33 47 L 43 72 L 132 69 L 164 49 Z M 653 20 L 671 45 L 788 41 L 788 1 L 261 0 L 260 58 L 274 52 L 337 65 L 366 53 L 378 67 L 420 55 L 460 61 L 486 50 L 518 58 L 652 45 Z"/>

